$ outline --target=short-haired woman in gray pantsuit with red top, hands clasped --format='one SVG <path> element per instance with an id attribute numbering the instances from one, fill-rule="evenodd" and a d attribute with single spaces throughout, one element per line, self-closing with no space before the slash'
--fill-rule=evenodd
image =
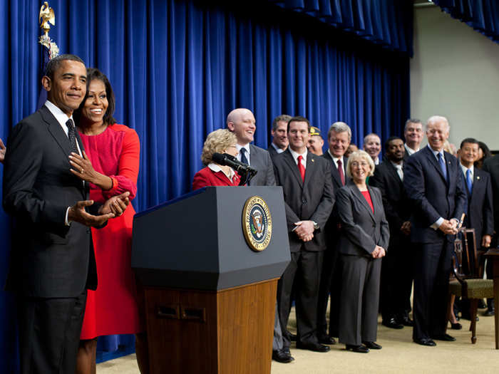
<path id="1" fill-rule="evenodd" d="M 339 312 L 339 341 L 346 350 L 368 353 L 376 344 L 381 257 L 389 243 L 381 192 L 366 185 L 374 162 L 363 150 L 346 164 L 351 182 L 336 194 L 341 221 L 338 246 L 343 268 Z"/>

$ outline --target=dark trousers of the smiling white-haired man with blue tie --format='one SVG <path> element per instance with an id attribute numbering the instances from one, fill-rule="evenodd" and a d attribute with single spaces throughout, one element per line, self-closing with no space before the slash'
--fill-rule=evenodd
<path id="1" fill-rule="evenodd" d="M 447 239 L 416 246 L 413 339 L 446 332 L 453 244 Z"/>

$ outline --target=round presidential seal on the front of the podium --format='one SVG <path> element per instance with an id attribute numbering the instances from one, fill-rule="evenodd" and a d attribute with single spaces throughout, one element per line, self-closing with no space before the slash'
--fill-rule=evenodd
<path id="1" fill-rule="evenodd" d="M 272 217 L 262 197 L 253 196 L 246 200 L 242 209 L 242 232 L 249 248 L 263 251 L 272 237 Z"/>

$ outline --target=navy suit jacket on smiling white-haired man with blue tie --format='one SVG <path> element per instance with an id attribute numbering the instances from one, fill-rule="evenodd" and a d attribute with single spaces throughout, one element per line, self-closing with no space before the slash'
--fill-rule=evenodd
<path id="1" fill-rule="evenodd" d="M 411 200 L 411 239 L 416 243 L 435 243 L 445 239 L 443 232 L 431 225 L 439 217 L 461 219 L 465 212 L 466 192 L 461 167 L 456 157 L 444 152 L 448 182 L 429 147 L 408 158 L 403 186 Z M 451 238 L 449 238 L 451 239 Z"/>

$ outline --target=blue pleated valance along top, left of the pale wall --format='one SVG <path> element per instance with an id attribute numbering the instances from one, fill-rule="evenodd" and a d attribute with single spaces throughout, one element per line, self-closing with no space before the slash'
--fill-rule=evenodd
<path id="1" fill-rule="evenodd" d="M 490 0 L 494 1 L 494 0 Z M 354 33 L 390 51 L 413 54 L 412 1 L 267 0 Z"/>

